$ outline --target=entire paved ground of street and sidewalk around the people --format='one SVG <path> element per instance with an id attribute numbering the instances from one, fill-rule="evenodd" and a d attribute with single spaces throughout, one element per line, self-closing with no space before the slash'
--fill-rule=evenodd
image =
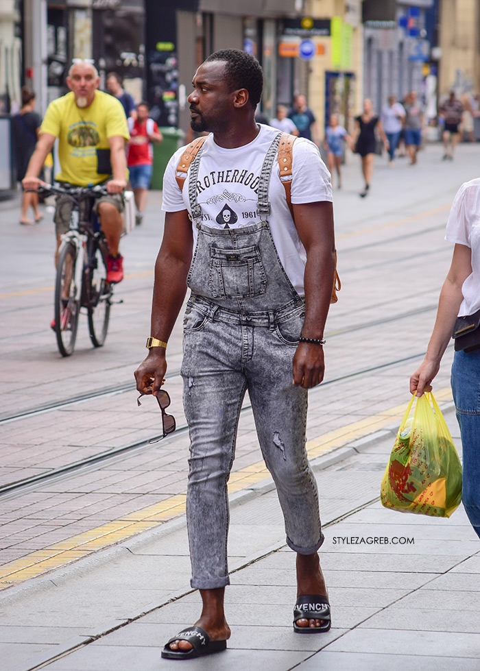
<path id="1" fill-rule="evenodd" d="M 324 522 L 335 522 L 366 506 L 337 522 L 322 550 L 331 599 L 339 607 L 334 629 L 321 641 L 306 637 L 306 642 L 297 641 L 286 629 L 293 598 L 291 557 L 282 548 L 276 498 L 261 461 L 246 399 L 230 480 L 231 499 L 237 501 L 230 554 L 238 570 L 228 597 L 235 613 L 230 624 L 239 625 L 230 646 L 235 652 L 229 650 L 203 666 L 194 663 L 192 668 L 226 668 L 222 665 L 231 663 L 232 668 L 287 669 L 300 662 L 306 670 L 319 664 L 326 669 L 334 665 L 397 668 L 391 657 L 385 657 L 392 654 L 397 655 L 398 668 L 414 668 L 415 655 L 426 655 L 429 663 L 435 657 L 437 668 L 446 668 L 443 664 L 475 668 L 470 662 L 480 656 L 480 632 L 470 590 L 471 574 L 478 574 L 479 563 L 478 557 L 468 557 L 477 552 L 478 544 L 463 510 L 448 522 L 432 522 L 367 504 L 378 496 L 392 430 L 408 400 L 408 378 L 422 359 L 433 326 L 452 251 L 443 240 L 448 208 L 461 182 L 477 175 L 479 153 L 478 145 L 461 145 L 455 163 L 446 165 L 440 160 L 441 148 L 429 146 L 415 167 L 398 160 L 394 169 L 388 169 L 383 160 L 377 160 L 371 193 L 365 200 L 358 196 L 357 157 L 350 157 L 344 169 L 346 188 L 335 191 L 343 287 L 328 317 L 326 380 L 310 394 L 307 426 L 307 448 L 313 463 L 321 468 L 317 476 Z M 195 617 L 196 593 L 158 609 L 189 591 L 182 526 L 188 437 L 182 428 L 178 375 L 181 321 L 169 343 L 165 385 L 177 418 L 176 434 L 147 443 L 160 431 L 158 407 L 146 398 L 138 408 L 132 381 L 149 334 L 152 267 L 163 225 L 160 197 L 160 193 L 151 193 L 143 225 L 123 240 L 126 277 L 115 293 L 123 303 L 112 307 L 106 345 L 99 350 L 91 347 L 82 318 L 75 354 L 67 359 L 56 351 L 49 329 L 53 310 L 51 212 L 40 225 L 21 227 L 16 223 L 18 202 L 0 204 L 4 251 L 0 269 L 0 487 L 51 474 L 37 484 L 0 494 L 0 651 L 4 648 L 10 660 L 9 670 L 35 668 L 35 663 L 49 655 L 71 649 L 73 639 L 88 643 L 109 629 L 116 630 L 119 622 L 146 612 L 150 603 L 152 613 L 122 629 L 125 635 L 115 631 L 48 668 L 157 668 L 158 645 L 171 635 L 171 623 L 175 629 Z M 447 408 L 457 439 L 455 417 L 448 411 L 450 361 L 448 350 L 435 391 Z M 367 446 L 361 452 L 363 462 L 351 456 L 352 445 L 359 450 Z M 135 447 L 99 463 L 80 464 L 130 446 Z M 343 458 L 350 461 L 339 461 Z M 79 466 L 71 472 L 56 474 L 75 463 Z M 264 519 L 259 520 L 259 515 Z M 353 548 L 334 547 L 334 530 L 335 537 L 346 536 L 355 524 L 365 534 L 374 525 L 378 535 L 392 537 L 400 535 L 400 530 L 407 535 L 413 529 L 418 537 L 414 552 L 407 548 L 385 552 L 377 547 L 357 553 Z M 462 541 L 461 552 L 458 540 Z M 272 548 L 280 551 L 270 553 Z M 435 557 L 431 566 L 429 553 Z M 136 578 L 132 578 L 136 565 L 123 561 L 127 555 L 128 559 L 149 558 Z M 263 555 L 265 559 L 250 568 L 241 568 Z M 355 561 L 353 572 L 350 555 Z M 88 578 L 91 570 L 97 580 Z M 158 578 L 154 578 L 156 572 Z M 123 587 L 118 589 L 122 580 L 125 593 Z M 93 596 L 97 589 L 100 599 Z M 422 595 L 425 602 L 435 603 L 435 612 L 446 610 L 435 600 L 440 589 L 448 591 L 452 608 L 467 602 L 465 610 L 470 615 L 455 611 L 442 621 L 424 613 Z M 251 622 L 250 612 L 259 611 L 252 604 L 262 604 L 265 622 Z M 405 610 L 409 604 L 413 615 Z M 32 607 L 29 620 L 22 615 L 28 605 Z M 110 620 L 115 622 L 106 626 Z M 410 627 L 423 632 L 423 638 Z M 327 646 L 328 652 L 323 650 L 321 657 L 305 661 L 320 646 Z M 348 657 L 353 653 L 355 664 Z M 142 659 L 142 666 L 135 666 L 136 659 Z"/>

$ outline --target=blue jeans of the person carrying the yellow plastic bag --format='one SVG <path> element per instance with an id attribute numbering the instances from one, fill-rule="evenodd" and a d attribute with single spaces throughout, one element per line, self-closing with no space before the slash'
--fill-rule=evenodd
<path id="1" fill-rule="evenodd" d="M 452 391 L 463 452 L 461 499 L 480 537 L 480 350 L 455 352 Z"/>

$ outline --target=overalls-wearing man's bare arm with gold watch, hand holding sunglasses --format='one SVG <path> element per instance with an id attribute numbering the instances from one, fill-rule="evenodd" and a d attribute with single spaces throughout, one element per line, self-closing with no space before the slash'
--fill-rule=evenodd
<path id="1" fill-rule="evenodd" d="M 167 342 L 187 293 L 193 251 L 193 234 L 187 210 L 167 212 L 165 232 L 155 263 L 152 326 L 150 335 Z M 162 385 L 167 361 L 164 347 L 152 347 L 135 371 L 136 388 L 156 395 Z"/>

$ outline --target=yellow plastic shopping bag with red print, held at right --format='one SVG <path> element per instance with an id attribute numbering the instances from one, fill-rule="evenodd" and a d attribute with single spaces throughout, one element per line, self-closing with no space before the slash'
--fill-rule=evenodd
<path id="1" fill-rule="evenodd" d="M 460 460 L 440 408 L 433 393 L 412 396 L 383 476 L 382 505 L 403 513 L 450 517 L 460 500 Z"/>

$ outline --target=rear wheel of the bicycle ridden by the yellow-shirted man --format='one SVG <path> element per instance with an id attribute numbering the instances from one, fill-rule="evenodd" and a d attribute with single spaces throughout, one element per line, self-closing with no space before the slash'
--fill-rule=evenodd
<path id="1" fill-rule="evenodd" d="M 112 286 L 106 281 L 107 269 L 104 253 L 95 244 L 89 260 L 88 282 L 88 331 L 94 347 L 101 347 L 107 337 Z"/>

